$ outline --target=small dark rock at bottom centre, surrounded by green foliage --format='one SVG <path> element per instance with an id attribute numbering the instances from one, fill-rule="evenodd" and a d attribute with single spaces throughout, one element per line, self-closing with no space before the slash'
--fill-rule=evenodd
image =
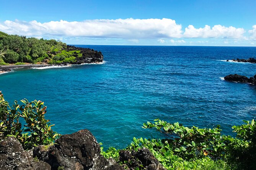
<path id="1" fill-rule="evenodd" d="M 126 165 L 130 169 L 143 165 L 145 170 L 165 170 L 157 158 L 146 148 L 139 149 L 137 152 L 121 150 L 119 151 L 119 156 L 122 162 L 128 161 Z"/>

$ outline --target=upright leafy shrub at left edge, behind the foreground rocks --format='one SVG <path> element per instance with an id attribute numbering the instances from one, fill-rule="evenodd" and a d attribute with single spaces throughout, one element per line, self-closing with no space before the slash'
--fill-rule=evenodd
<path id="1" fill-rule="evenodd" d="M 0 140 L 14 136 L 24 149 L 54 142 L 59 134 L 54 132 L 50 120 L 44 118 L 46 106 L 42 101 L 21 100 L 21 106 L 14 102 L 12 106 L 3 98 L 0 91 Z"/>

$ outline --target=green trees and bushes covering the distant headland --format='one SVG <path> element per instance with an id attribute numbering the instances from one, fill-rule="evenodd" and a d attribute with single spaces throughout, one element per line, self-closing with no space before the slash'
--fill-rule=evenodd
<path id="1" fill-rule="evenodd" d="M 82 57 L 81 51 L 67 51 L 67 44 L 43 38 L 26 38 L 0 32 L 0 65 L 7 63 L 72 63 L 76 57 Z"/>

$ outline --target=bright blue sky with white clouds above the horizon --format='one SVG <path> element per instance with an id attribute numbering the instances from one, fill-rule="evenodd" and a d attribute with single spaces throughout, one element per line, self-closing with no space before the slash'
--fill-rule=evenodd
<path id="1" fill-rule="evenodd" d="M 256 0 L 0 0 L 0 31 L 67 44 L 256 47 Z"/>

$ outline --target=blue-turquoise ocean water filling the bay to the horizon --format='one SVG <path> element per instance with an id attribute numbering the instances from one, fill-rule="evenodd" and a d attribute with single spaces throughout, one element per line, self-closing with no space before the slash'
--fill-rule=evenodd
<path id="1" fill-rule="evenodd" d="M 256 117 L 256 86 L 220 79 L 255 75 L 256 64 L 221 61 L 256 57 L 255 47 L 79 46 L 102 51 L 106 63 L 2 74 L 5 99 L 40 99 L 55 131 L 87 128 L 105 148 L 161 137 L 141 128 L 155 118 L 232 134 Z"/>

